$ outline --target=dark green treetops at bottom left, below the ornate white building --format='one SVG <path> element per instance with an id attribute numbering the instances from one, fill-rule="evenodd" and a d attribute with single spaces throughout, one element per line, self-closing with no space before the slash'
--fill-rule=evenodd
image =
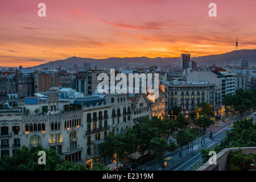
<path id="1" fill-rule="evenodd" d="M 39 164 L 39 151 L 46 152 L 46 164 Z M 60 155 L 51 148 L 43 149 L 42 146 L 22 148 L 16 150 L 13 157 L 3 155 L 0 160 L 0 171 L 87 171 L 85 164 L 75 164 L 61 159 Z M 98 162 L 93 165 L 92 171 L 107 171 L 108 168 Z"/>

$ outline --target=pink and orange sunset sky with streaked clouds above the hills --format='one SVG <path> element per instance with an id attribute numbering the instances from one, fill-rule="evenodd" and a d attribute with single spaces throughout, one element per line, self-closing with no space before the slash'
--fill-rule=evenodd
<path id="1" fill-rule="evenodd" d="M 38 4 L 46 4 L 46 17 Z M 217 17 L 210 17 L 209 3 Z M 255 0 L 0 0 L 0 66 L 256 48 Z"/>

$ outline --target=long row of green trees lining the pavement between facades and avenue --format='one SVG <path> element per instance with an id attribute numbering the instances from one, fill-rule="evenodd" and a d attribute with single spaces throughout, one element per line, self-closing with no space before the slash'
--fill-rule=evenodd
<path id="1" fill-rule="evenodd" d="M 126 156 L 131 157 L 138 151 L 143 158 L 146 152 L 154 151 L 159 167 L 163 167 L 163 156 L 180 147 L 182 158 L 182 147 L 192 143 L 197 137 L 204 134 L 207 127 L 213 121 L 204 114 L 193 120 L 194 127 L 187 128 L 190 124 L 182 113 L 177 114 L 176 119 L 160 119 L 158 117 L 144 117 L 139 120 L 133 128 L 128 128 L 125 134 L 109 132 L 105 136 L 105 142 L 98 147 L 98 157 L 106 163 L 108 160 L 115 160 L 117 165 Z M 168 141 L 172 136 L 175 141 Z"/>

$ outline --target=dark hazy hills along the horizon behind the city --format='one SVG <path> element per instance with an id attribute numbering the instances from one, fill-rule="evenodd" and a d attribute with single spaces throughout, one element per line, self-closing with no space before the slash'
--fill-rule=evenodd
<path id="1" fill-rule="evenodd" d="M 193 55 L 191 55 L 193 56 Z M 256 49 L 242 49 L 238 51 L 232 51 L 223 53 L 220 55 L 208 55 L 208 56 L 200 56 L 200 57 L 191 57 L 191 60 L 197 62 L 199 64 L 212 64 L 212 63 L 226 63 L 232 64 L 233 62 L 240 61 L 241 59 L 249 60 L 249 62 L 256 63 Z M 92 58 L 82 58 L 82 57 L 69 57 L 64 60 L 56 60 L 50 61 L 45 64 L 40 64 L 35 66 L 34 68 L 40 67 L 49 67 L 56 64 L 60 64 L 61 67 L 73 67 L 73 64 L 81 65 L 83 63 L 90 63 L 91 67 L 97 67 L 99 69 L 102 68 L 120 68 L 125 65 L 131 65 L 134 67 L 148 67 L 150 65 L 172 65 L 179 66 L 180 65 L 180 57 L 109 57 L 107 59 L 92 59 Z"/>

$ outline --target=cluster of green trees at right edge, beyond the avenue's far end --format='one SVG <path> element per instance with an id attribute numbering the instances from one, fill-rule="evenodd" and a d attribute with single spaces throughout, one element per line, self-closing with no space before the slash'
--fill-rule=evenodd
<path id="1" fill-rule="evenodd" d="M 244 115 L 256 106 L 256 89 L 253 91 L 238 89 L 236 94 L 227 94 L 222 103 L 233 111 L 238 111 L 241 115 Z"/>

